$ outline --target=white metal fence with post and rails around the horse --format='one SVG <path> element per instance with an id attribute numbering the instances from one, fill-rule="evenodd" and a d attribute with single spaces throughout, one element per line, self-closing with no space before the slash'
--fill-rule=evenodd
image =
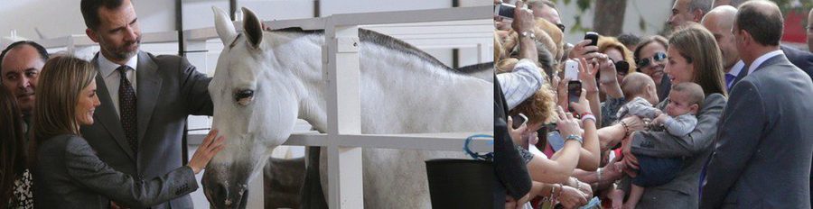
<path id="1" fill-rule="evenodd" d="M 328 17 L 270 21 L 273 29 L 300 27 L 304 30 L 324 30 L 322 46 L 324 79 L 327 81 L 326 133 L 294 133 L 285 145 L 319 146 L 327 149 L 328 204 L 331 208 L 363 208 L 361 149 L 452 150 L 463 151 L 468 136 L 482 132 L 421 133 L 421 134 L 361 134 L 360 126 L 360 72 L 358 28 L 382 32 L 421 49 L 477 49 L 477 61 L 492 61 L 492 8 L 491 6 L 402 12 L 333 14 Z M 240 26 L 241 23 L 235 23 Z M 237 27 L 238 30 L 242 27 Z M 181 40 L 186 57 L 199 70 L 213 75 L 217 54 L 222 50 L 217 32 L 212 28 L 183 31 Z M 92 59 L 98 45 L 85 35 L 70 35 L 38 41 L 50 52 L 67 50 L 80 58 Z M 142 37 L 142 50 L 155 54 L 177 54 L 177 32 L 150 32 Z M 174 47 L 172 46 L 174 45 Z M 151 50 L 154 47 L 154 50 Z M 157 51 L 155 51 L 157 50 Z M 341 96 L 339 96 L 341 95 Z M 491 110 L 483 110 L 491 111 Z M 191 119 L 190 123 L 210 126 L 205 117 Z M 209 126 L 207 126 L 209 125 Z M 191 125 L 191 128 L 193 126 Z M 191 132 L 190 143 L 200 143 L 205 132 Z M 405 143 L 404 141 L 409 141 Z M 491 139 L 475 139 L 473 151 L 491 151 Z M 251 188 L 249 204 L 262 207 L 262 177 L 259 186 Z M 204 205 L 199 205 L 204 206 Z M 249 206 L 254 208 L 253 206 Z"/>

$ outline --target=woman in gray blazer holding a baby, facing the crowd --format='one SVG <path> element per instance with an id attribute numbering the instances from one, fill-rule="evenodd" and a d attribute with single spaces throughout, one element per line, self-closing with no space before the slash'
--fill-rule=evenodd
<path id="1" fill-rule="evenodd" d="M 700 173 L 713 150 L 717 122 L 727 96 L 722 56 L 714 35 L 697 24 L 675 32 L 669 39 L 668 65 L 664 71 L 673 85 L 694 82 L 703 87 L 706 100 L 696 115 L 695 130 L 687 136 L 676 137 L 668 132 L 636 131 L 633 126 L 640 125 L 617 123 L 602 130 L 603 139 L 612 141 L 611 145 L 624 139 L 621 142 L 623 160 L 628 169 L 638 168 L 636 155 L 684 159 L 683 167 L 671 182 L 646 188 L 638 208 L 697 208 Z M 668 103 L 669 98 L 666 98 L 657 106 L 664 110 Z M 635 121 L 633 123 L 641 123 L 640 118 Z"/>

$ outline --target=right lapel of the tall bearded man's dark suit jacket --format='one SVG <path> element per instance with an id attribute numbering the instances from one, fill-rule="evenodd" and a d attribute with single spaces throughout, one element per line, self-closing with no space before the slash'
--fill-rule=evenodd
<path id="1" fill-rule="evenodd" d="M 142 142 L 144 142 L 144 136 L 149 126 L 150 118 L 153 116 L 155 103 L 157 102 L 158 96 L 161 95 L 162 79 L 158 75 L 158 65 L 155 64 L 153 59 L 151 59 L 146 52 L 138 52 L 138 66 L 136 68 L 138 89 L 135 93 L 135 110 L 138 115 L 136 119 L 138 123 L 137 139 L 138 147 L 140 148 Z"/>

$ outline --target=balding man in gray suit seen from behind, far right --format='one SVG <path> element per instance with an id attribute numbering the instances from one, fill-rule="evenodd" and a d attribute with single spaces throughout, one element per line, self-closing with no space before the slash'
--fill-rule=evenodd
<path id="1" fill-rule="evenodd" d="M 734 38 L 748 68 L 731 92 L 700 208 L 810 208 L 813 81 L 780 50 L 774 3 L 740 6 Z"/>

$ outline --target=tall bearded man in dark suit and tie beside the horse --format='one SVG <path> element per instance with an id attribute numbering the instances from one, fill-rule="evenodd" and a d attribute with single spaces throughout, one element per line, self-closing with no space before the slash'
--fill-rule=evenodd
<path id="1" fill-rule="evenodd" d="M 141 31 L 129 0 L 82 0 L 82 16 L 100 55 L 97 123 L 81 132 L 107 165 L 138 179 L 182 166 L 189 114 L 211 115 L 210 78 L 178 56 L 139 51 Z M 192 208 L 184 195 L 153 208 Z"/>

